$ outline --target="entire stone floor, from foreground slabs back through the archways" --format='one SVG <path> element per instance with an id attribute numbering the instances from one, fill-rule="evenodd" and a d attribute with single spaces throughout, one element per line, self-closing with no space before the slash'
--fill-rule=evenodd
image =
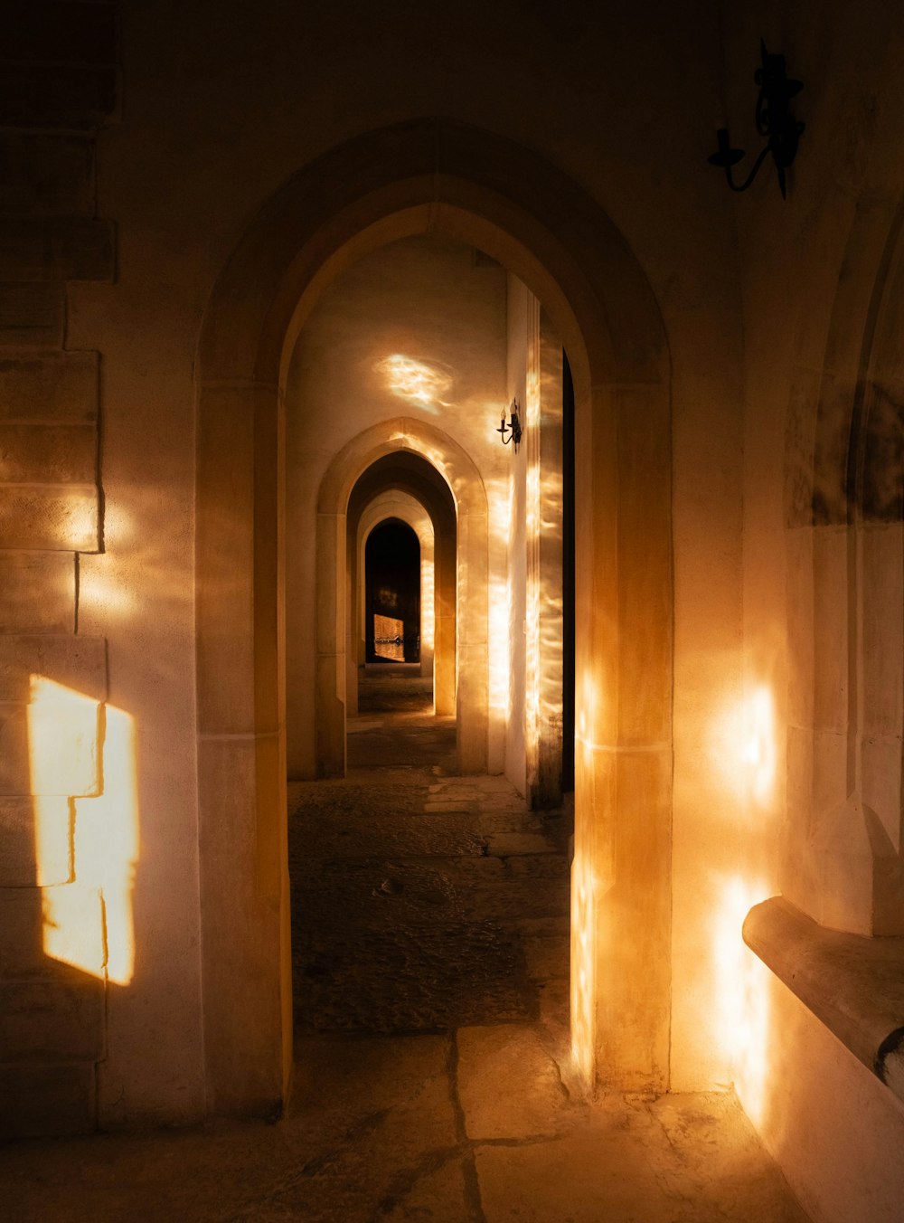
<path id="1" fill-rule="evenodd" d="M 731 1095 L 588 1102 L 567 821 L 454 777 L 408 685 L 291 789 L 297 1086 L 275 1125 L 16 1142 L 12 1223 L 806 1223 Z M 368 702 L 369 706 L 368 706 Z"/>

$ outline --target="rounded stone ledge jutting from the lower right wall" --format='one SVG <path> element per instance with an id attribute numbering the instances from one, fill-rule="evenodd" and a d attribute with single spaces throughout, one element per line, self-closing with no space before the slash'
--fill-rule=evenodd
<path id="1" fill-rule="evenodd" d="M 755 905 L 744 942 L 904 1101 L 904 937 L 826 929 L 783 896 Z"/>

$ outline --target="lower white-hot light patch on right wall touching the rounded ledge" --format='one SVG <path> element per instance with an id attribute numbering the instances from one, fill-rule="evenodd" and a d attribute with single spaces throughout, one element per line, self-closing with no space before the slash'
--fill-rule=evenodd
<path id="1" fill-rule="evenodd" d="M 742 926 L 750 909 L 768 895 L 762 883 L 740 876 L 724 879 L 712 927 L 716 1031 L 738 1096 L 755 1124 L 762 1120 L 768 1073 L 768 970 L 744 943 Z"/>

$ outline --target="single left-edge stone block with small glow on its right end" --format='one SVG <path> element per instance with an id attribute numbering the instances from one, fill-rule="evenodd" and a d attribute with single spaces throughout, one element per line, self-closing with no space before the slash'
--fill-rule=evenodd
<path id="1" fill-rule="evenodd" d="M 0 487 L 0 548 L 98 552 L 99 512 L 92 484 Z"/>

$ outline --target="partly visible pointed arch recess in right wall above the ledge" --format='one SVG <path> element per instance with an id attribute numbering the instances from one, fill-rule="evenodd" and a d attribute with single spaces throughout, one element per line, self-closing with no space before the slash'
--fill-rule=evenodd
<path id="1" fill-rule="evenodd" d="M 858 209 L 822 369 L 786 442 L 783 893 L 821 925 L 904 933 L 904 202 Z"/>

